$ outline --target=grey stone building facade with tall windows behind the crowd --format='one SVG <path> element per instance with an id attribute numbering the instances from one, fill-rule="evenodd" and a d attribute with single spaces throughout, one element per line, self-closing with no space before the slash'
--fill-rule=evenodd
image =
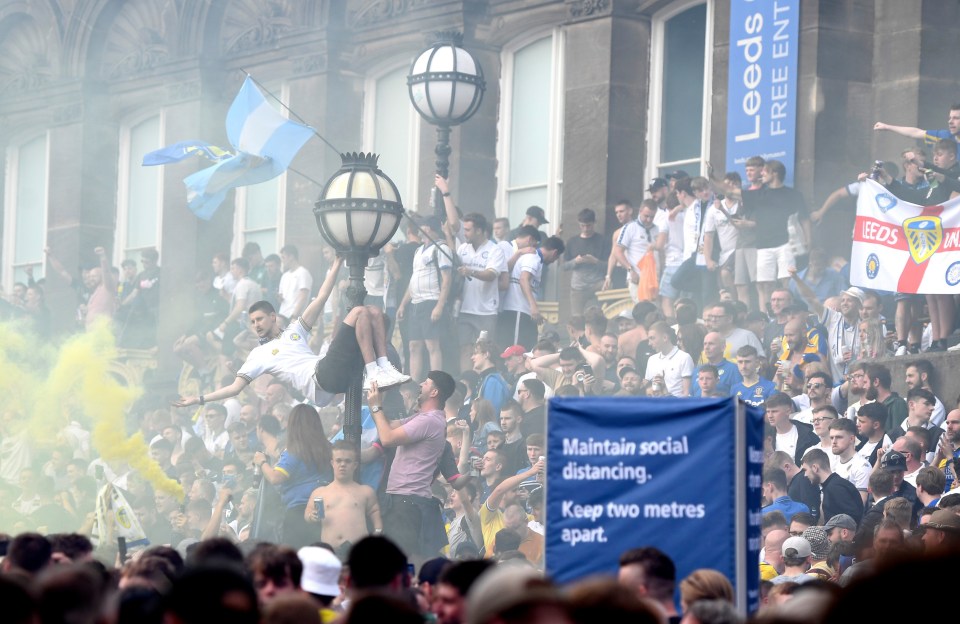
<path id="1" fill-rule="evenodd" d="M 960 99 L 957 3 L 769 2 L 800 4 L 795 179 L 811 204 L 874 155 L 895 157 L 904 141 L 874 121 L 942 127 Z M 406 206 L 422 209 L 435 134 L 404 79 L 440 30 L 464 33 L 487 83 L 453 133 L 457 203 L 514 222 L 542 205 L 564 237 L 590 207 L 602 231 L 613 202 L 639 202 L 657 171 L 722 169 L 729 21 L 724 0 L 0 0 L 0 283 L 42 272 L 45 245 L 67 267 L 97 245 L 117 264 L 156 246 L 169 344 L 216 251 L 293 243 L 318 271 L 311 208 L 339 165 L 319 140 L 296 172 L 231 195 L 209 222 L 182 183 L 203 163 L 139 159 L 185 139 L 224 144 L 249 72 L 339 150 L 381 153 Z M 846 236 L 847 217 L 834 218 L 827 245 Z M 72 294 L 53 277 L 48 291 L 66 322 Z"/>

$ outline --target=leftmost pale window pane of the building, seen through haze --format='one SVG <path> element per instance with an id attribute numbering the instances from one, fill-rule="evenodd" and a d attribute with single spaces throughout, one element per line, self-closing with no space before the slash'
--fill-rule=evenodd
<path id="1" fill-rule="evenodd" d="M 47 212 L 47 139 L 24 143 L 17 163 L 17 204 L 13 263 L 43 263 L 44 218 Z M 18 275 L 19 277 L 19 275 Z M 35 277 L 40 277 L 38 271 Z"/>

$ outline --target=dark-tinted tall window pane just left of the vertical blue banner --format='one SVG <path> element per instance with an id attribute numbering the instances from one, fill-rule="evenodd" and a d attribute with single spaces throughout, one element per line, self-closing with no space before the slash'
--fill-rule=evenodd
<path id="1" fill-rule="evenodd" d="M 700 157 L 707 5 L 664 24 L 660 162 Z"/>

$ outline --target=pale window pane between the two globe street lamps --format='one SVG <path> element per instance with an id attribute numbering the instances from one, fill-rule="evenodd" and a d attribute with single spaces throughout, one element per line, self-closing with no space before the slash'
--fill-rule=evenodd
<path id="1" fill-rule="evenodd" d="M 377 81 L 373 125 L 373 151 L 380 155 L 380 169 L 397 185 L 404 205 L 416 201 L 407 188 L 411 166 L 407 71 L 401 67 Z"/>

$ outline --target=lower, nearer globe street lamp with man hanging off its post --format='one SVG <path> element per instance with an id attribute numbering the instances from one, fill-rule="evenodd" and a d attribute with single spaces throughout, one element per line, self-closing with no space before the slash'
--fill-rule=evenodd
<path id="1" fill-rule="evenodd" d="M 397 186 L 377 167 L 376 154 L 341 154 L 340 158 L 343 164 L 324 185 L 313 214 L 320 235 L 347 263 L 350 286 L 346 301 L 350 310 L 363 305 L 367 261 L 396 234 L 403 205 Z M 362 383 L 358 375 L 347 390 L 343 422 L 344 439 L 353 442 L 358 452 Z"/>

